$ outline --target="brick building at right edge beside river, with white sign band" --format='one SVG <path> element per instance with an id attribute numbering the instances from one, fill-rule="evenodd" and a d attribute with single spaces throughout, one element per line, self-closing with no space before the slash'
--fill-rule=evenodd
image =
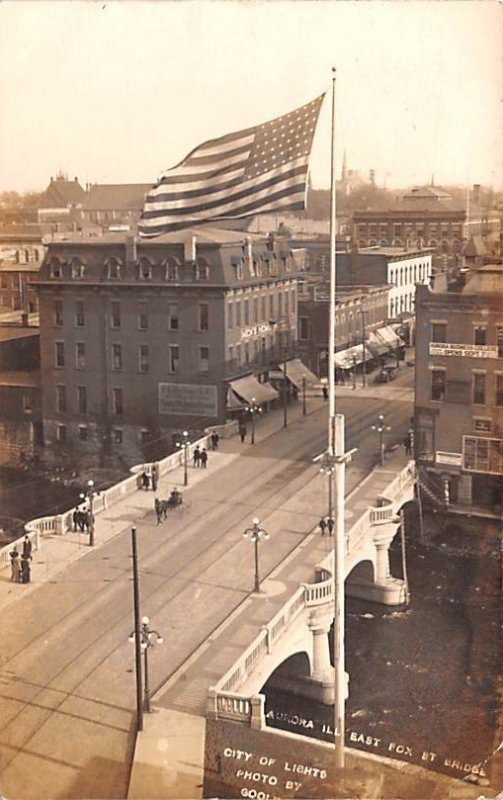
<path id="1" fill-rule="evenodd" d="M 419 286 L 415 454 L 442 502 L 501 514 L 503 267 L 469 272 L 457 291 Z"/>

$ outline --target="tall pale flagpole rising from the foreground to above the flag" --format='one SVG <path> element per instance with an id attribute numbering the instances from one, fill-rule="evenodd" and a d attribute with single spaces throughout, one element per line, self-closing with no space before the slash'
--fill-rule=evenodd
<path id="1" fill-rule="evenodd" d="M 335 766 L 344 767 L 344 417 L 335 409 L 335 310 L 336 310 L 336 163 L 335 163 L 335 82 L 332 67 L 332 146 L 330 181 L 330 330 L 328 344 L 328 470 L 329 488 L 335 489 L 334 525 L 334 748 Z M 335 477 L 335 486 L 334 486 Z"/>

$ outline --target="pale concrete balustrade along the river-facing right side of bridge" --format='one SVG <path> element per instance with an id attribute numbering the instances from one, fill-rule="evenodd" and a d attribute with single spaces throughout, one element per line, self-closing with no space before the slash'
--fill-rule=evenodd
<path id="1" fill-rule="evenodd" d="M 415 483 L 413 463 L 409 463 L 387 486 L 386 492 L 378 498 L 376 506 L 369 506 L 346 534 L 348 554 L 359 548 L 369 537 L 373 539 L 376 526 L 397 522 L 397 513 L 403 502 L 410 499 Z M 274 645 L 299 615 L 312 609 L 330 606 L 333 618 L 334 581 L 333 553 L 329 553 L 321 566 L 315 567 L 316 579 L 303 584 L 289 598 L 283 608 L 267 624 L 236 663 L 225 673 L 218 683 L 211 687 L 207 696 L 207 713 L 212 718 L 223 718 L 260 728 L 264 724 L 263 695 L 246 697 L 239 694 L 242 686 L 263 658 L 272 652 Z M 303 622 L 305 622 L 303 620 Z M 302 624 L 302 623 L 301 623 Z"/>

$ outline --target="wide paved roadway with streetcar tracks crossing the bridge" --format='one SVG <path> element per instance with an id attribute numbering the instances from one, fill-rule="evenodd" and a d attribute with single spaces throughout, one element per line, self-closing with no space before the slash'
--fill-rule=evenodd
<path id="1" fill-rule="evenodd" d="M 370 426 L 378 413 L 392 426 L 389 442 L 401 440 L 411 414 L 410 392 L 398 384 L 386 401 L 343 398 L 338 411 L 347 414 L 347 446 L 361 448 L 348 473 L 350 491 L 375 463 Z M 274 534 L 261 553 L 265 576 L 325 511 L 306 509 L 295 524 L 281 515 L 283 500 L 312 478 L 311 457 L 323 449 L 325 429 L 326 406 L 267 439 L 259 431 L 257 445 L 230 463 L 226 451 L 235 452 L 237 444 L 223 443 L 205 480 L 186 493 L 183 512 L 159 527 L 153 514 L 138 523 L 142 613 L 165 637 L 163 649 L 151 653 L 154 690 L 250 594 L 252 553 L 241 532 L 251 519 L 259 516 Z M 220 461 L 224 465 L 217 469 Z M 121 534 L 4 615 L 0 769 L 11 800 L 126 795 L 135 700 L 127 642 L 130 513 Z M 107 514 L 117 519 L 120 505 Z"/>

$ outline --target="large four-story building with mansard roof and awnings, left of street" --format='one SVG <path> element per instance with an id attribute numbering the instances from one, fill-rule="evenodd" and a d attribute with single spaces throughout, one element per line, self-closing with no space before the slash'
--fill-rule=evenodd
<path id="1" fill-rule="evenodd" d="M 286 239 L 200 227 L 48 245 L 38 281 L 46 441 L 145 457 L 173 430 L 277 397 L 297 335 Z"/>

